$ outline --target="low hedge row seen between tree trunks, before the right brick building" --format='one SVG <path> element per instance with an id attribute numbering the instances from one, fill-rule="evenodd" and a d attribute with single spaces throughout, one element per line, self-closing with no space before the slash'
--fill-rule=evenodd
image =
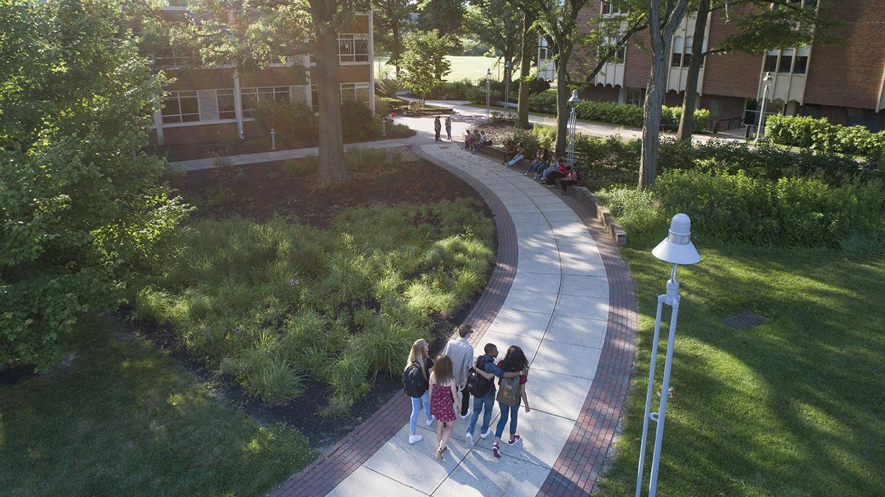
<path id="1" fill-rule="evenodd" d="M 543 92 L 528 99 L 528 108 L 535 112 L 556 113 L 556 92 Z M 590 121 L 612 123 L 621 126 L 643 126 L 643 108 L 629 103 L 614 102 L 591 102 L 584 101 L 578 104 L 578 118 Z M 661 127 L 674 130 L 679 127 L 681 119 L 681 107 L 663 107 L 661 113 Z M 695 133 L 704 131 L 710 120 L 710 111 L 697 109 L 693 130 Z"/>

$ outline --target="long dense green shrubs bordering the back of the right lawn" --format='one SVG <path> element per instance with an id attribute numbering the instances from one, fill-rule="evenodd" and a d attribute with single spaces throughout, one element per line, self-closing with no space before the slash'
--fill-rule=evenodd
<path id="1" fill-rule="evenodd" d="M 880 240 L 879 185 L 751 178 L 743 172 L 671 171 L 654 191 L 661 210 L 685 212 L 699 240 L 765 247 L 837 248 L 851 235 Z"/>

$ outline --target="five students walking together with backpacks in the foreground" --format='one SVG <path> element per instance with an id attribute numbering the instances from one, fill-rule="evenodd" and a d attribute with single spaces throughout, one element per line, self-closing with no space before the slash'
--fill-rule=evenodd
<path id="1" fill-rule="evenodd" d="M 470 419 L 466 443 L 468 447 L 473 447 L 476 445 L 477 435 L 481 439 L 491 435 L 489 424 L 497 401 L 501 419 L 496 425 L 492 453 L 495 457 L 501 457 L 501 436 L 507 422 L 510 421 L 507 444 L 513 445 L 521 440 L 516 432 L 519 406 L 525 405 L 526 412 L 531 411 L 526 394 L 528 360 L 522 349 L 512 345 L 507 348 L 504 359 L 496 362 L 498 350 L 495 344 L 488 343 L 483 348 L 483 355 L 474 361 L 473 346 L 469 341 L 472 333 L 473 328 L 470 325 L 458 326 L 458 339 L 449 340 L 435 359 L 429 355 L 427 341 L 416 340 L 405 364 L 403 385 L 405 393 L 412 397 L 409 443 L 416 443 L 423 438 L 416 430 L 418 416 L 423 408 L 427 416 L 427 426 L 436 422 L 436 458 L 440 460 L 445 458 L 458 417 L 462 420 Z M 470 409 L 471 396 L 473 409 Z M 477 434 L 476 423 L 480 414 L 482 424 Z"/>

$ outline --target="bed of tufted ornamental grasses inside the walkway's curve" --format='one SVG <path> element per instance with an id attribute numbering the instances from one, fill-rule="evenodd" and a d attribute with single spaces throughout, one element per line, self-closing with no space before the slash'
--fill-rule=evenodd
<path id="1" fill-rule="evenodd" d="M 167 327 L 191 356 L 266 404 L 319 386 L 327 392 L 319 397 L 321 413 L 346 414 L 376 375 L 398 376 L 412 341 L 432 340 L 440 333 L 436 324 L 479 294 L 494 259 L 494 225 L 475 195 L 373 204 L 389 200 L 377 195 L 390 186 L 386 180 L 417 174 L 411 167 L 427 180 L 417 191 L 435 186 L 429 164 L 387 155 L 350 152 L 351 195 L 375 192 L 359 207 L 348 206 L 342 192 L 350 188 L 342 185 L 328 192 L 339 210 L 319 218 L 305 212 L 307 203 L 299 204 L 304 210 L 273 205 L 268 212 L 270 201 L 260 201 L 264 209 L 241 210 L 250 218 L 231 217 L 236 206 L 224 216 L 211 210 L 211 218 L 189 226 L 181 256 L 145 281 L 134 297 L 135 316 Z M 309 181 L 303 185 L 311 164 L 275 170 L 309 191 Z M 221 184 L 230 169 L 221 168 Z M 242 187 L 233 196 L 266 195 Z"/>

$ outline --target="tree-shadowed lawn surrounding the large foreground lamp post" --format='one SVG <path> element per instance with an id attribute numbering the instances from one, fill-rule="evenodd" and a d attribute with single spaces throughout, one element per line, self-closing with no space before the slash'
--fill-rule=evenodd
<path id="1" fill-rule="evenodd" d="M 885 494 L 885 262 L 822 251 L 700 249 L 702 263 L 680 271 L 658 491 Z M 647 248 L 623 256 L 640 299 L 639 356 L 625 432 L 599 482 L 604 496 L 634 492 L 656 295 L 668 276 Z M 721 324 L 746 310 L 770 321 L 747 331 Z M 662 340 L 658 377 L 665 347 Z"/>

